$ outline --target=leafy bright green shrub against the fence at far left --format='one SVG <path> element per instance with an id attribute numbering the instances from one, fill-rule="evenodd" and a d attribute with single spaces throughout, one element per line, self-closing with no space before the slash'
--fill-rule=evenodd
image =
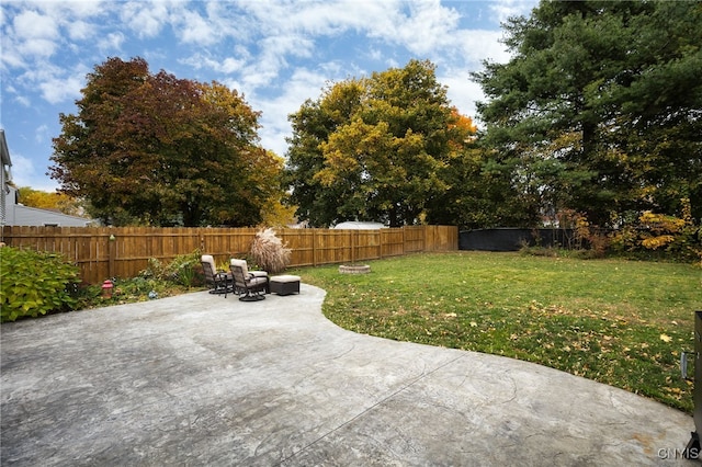
<path id="1" fill-rule="evenodd" d="M 78 267 L 60 254 L 0 248 L 1 320 L 75 309 Z"/>

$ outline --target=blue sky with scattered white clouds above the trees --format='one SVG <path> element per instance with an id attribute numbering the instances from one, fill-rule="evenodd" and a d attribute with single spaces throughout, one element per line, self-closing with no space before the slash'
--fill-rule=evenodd
<path id="1" fill-rule="evenodd" d="M 261 145 L 285 156 L 287 115 L 347 78 L 429 59 L 452 104 L 474 116 L 468 73 L 506 61 L 500 22 L 536 0 L 1 0 L 0 127 L 19 186 L 53 191 L 46 172 L 59 113 L 75 114 L 86 75 L 109 57 L 151 72 L 216 80 L 262 113 Z"/>

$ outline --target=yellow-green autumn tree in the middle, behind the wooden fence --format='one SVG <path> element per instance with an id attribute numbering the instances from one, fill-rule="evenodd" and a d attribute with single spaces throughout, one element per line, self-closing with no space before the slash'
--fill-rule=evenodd
<path id="1" fill-rule="evenodd" d="M 464 128 L 429 61 L 349 79 L 291 115 L 287 178 L 298 217 L 313 225 L 411 225 L 445 191 L 451 144 Z"/>

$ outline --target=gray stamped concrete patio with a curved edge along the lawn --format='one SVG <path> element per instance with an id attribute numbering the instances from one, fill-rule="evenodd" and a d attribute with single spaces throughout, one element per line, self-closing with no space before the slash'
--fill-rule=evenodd
<path id="1" fill-rule="evenodd" d="M 2 465 L 697 465 L 682 412 L 346 331 L 324 297 L 194 293 L 2 324 Z"/>

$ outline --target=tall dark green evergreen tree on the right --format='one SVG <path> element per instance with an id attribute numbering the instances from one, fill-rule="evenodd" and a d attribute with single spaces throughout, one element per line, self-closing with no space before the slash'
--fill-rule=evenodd
<path id="1" fill-rule="evenodd" d="M 702 216 L 702 3 L 542 2 L 474 73 L 494 164 L 542 212 Z"/>

